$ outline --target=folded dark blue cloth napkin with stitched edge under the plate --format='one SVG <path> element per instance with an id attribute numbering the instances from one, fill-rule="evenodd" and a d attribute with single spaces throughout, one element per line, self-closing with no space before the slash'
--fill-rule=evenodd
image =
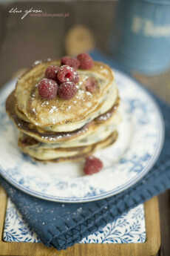
<path id="1" fill-rule="evenodd" d="M 113 67 L 100 53 L 92 57 Z M 115 67 L 115 65 L 114 65 Z M 118 68 L 118 67 L 117 67 Z M 170 188 L 170 106 L 157 99 L 166 125 L 166 139 L 159 160 L 138 183 L 115 196 L 91 203 L 54 203 L 19 191 L 0 177 L 1 186 L 21 212 L 24 220 L 46 246 L 67 249 L 98 231 L 120 214 Z M 78 209 L 81 208 L 81 211 Z"/>

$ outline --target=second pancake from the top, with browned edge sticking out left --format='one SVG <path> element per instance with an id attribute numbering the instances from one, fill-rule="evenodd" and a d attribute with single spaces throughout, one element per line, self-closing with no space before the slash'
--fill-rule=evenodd
<path id="1" fill-rule="evenodd" d="M 75 146 L 76 138 L 78 137 L 78 143 L 81 142 L 81 140 L 86 140 L 87 136 L 92 137 L 98 137 L 97 135 L 100 133 L 103 135 L 103 138 L 106 137 L 105 134 L 102 134 L 103 131 L 108 131 L 111 126 L 118 125 L 120 122 L 120 116 L 116 114 L 118 110 L 120 99 L 118 98 L 115 102 L 115 104 L 112 106 L 109 111 L 107 111 L 105 114 L 102 114 L 101 116 L 98 116 L 88 124 L 84 125 L 82 128 L 71 131 L 67 133 L 57 133 L 57 132 L 47 132 L 41 130 L 41 128 L 38 128 L 35 125 L 30 124 L 29 122 L 25 122 L 22 119 L 18 117 L 15 111 L 15 105 L 16 105 L 16 98 L 14 96 L 14 93 L 11 93 L 10 96 L 8 96 L 6 101 L 6 111 L 9 114 L 10 118 L 13 119 L 15 122 L 17 128 L 22 131 L 24 134 L 27 134 L 31 137 L 34 137 L 35 140 L 38 140 L 40 142 L 44 143 L 55 143 L 58 142 L 58 146 L 62 146 L 62 143 L 64 146 L 66 146 L 69 142 L 70 145 Z M 114 115 L 114 116 L 113 116 Z M 104 123 L 103 126 L 106 125 L 106 127 L 101 127 L 100 125 Z M 102 125 L 101 125 L 102 126 Z M 95 132 L 98 131 L 98 134 L 95 135 Z M 102 139 L 103 139 L 102 138 Z M 73 143 L 73 144 L 72 144 Z"/>

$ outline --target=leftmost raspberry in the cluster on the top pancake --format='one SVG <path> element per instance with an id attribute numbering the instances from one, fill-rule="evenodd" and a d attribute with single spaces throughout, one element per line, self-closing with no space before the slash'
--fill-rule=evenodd
<path id="1" fill-rule="evenodd" d="M 38 93 L 43 99 L 54 99 L 57 91 L 58 84 L 52 79 L 44 78 L 38 83 Z"/>

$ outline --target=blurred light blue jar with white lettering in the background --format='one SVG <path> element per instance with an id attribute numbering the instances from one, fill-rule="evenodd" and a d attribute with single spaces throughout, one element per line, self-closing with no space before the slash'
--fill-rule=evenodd
<path id="1" fill-rule="evenodd" d="M 161 73 L 170 67 L 170 0 L 119 0 L 110 49 L 129 70 Z"/>

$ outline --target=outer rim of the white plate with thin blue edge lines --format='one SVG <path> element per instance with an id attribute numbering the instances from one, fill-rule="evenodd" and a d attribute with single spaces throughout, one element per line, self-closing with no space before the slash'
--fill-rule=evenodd
<path id="1" fill-rule="evenodd" d="M 116 189 L 114 190 L 110 190 L 107 192 L 104 192 L 103 194 L 99 194 L 99 195 L 95 195 L 92 197 L 78 197 L 78 198 L 69 198 L 69 197 L 56 197 L 56 196 L 48 196 L 48 195 L 44 195 L 41 192 L 38 191 L 33 191 L 30 190 L 30 188 L 25 188 L 23 186 L 21 186 L 20 184 L 16 183 L 13 179 L 8 180 L 8 177 L 5 175 L 5 171 L 3 171 L 3 169 L 0 169 L 0 174 L 2 175 L 2 177 L 4 177 L 5 180 L 7 180 L 7 182 L 9 182 L 10 184 L 12 184 L 13 186 L 15 186 L 16 188 L 20 189 L 21 191 L 24 191 L 27 194 L 30 194 L 33 197 L 37 197 L 43 200 L 48 200 L 48 201 L 52 201 L 52 202 L 58 202 L 58 203 L 89 203 L 92 201 L 96 201 L 96 200 L 102 200 L 108 197 L 112 197 L 115 194 L 119 194 L 120 192 L 125 191 L 127 188 L 130 188 L 131 186 L 135 185 L 139 180 L 141 180 L 153 167 L 154 163 L 156 163 L 158 157 L 160 156 L 160 152 L 163 149 L 163 143 L 165 140 L 165 124 L 164 124 L 164 119 L 163 119 L 163 114 L 160 110 L 159 105 L 157 105 L 157 102 L 154 99 L 154 96 L 152 96 L 152 93 L 149 92 L 149 90 L 147 90 L 147 88 L 144 88 L 142 84 L 140 84 L 140 82 L 138 82 L 135 78 L 133 78 L 132 76 L 130 76 L 127 73 L 124 73 L 122 70 L 118 70 L 117 68 L 112 68 L 116 73 L 120 73 L 121 76 L 125 76 L 127 79 L 132 80 L 132 82 L 135 82 L 135 85 L 140 88 L 140 90 L 142 90 L 144 93 L 146 93 L 147 95 L 149 95 L 149 98 L 152 100 L 152 103 L 154 104 L 154 107 L 157 111 L 157 116 L 160 119 L 160 129 L 159 129 L 159 141 L 158 141 L 158 146 L 157 149 L 154 152 L 154 155 L 152 157 L 152 160 L 149 161 L 149 163 L 143 168 L 143 171 L 141 171 L 140 174 L 137 174 L 137 176 L 134 178 L 132 177 L 128 182 L 126 182 L 123 186 L 118 186 Z M 10 82 L 7 82 L 6 86 L 4 85 L 4 87 L 0 90 L 0 93 L 3 93 L 3 91 L 5 91 L 5 89 L 7 88 L 7 85 L 10 85 L 11 82 L 15 81 L 16 79 L 11 80 Z M 3 174 L 4 172 L 4 174 Z"/>

